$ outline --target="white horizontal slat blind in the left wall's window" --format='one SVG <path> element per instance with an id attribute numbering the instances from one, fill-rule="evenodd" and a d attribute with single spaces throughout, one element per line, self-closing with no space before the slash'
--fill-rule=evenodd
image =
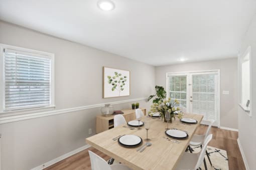
<path id="1" fill-rule="evenodd" d="M 51 58 L 4 49 L 4 110 L 51 104 Z"/>

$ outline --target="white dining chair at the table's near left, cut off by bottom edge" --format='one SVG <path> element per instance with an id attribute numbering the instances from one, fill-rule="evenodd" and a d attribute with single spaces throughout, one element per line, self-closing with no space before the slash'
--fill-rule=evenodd
<path id="1" fill-rule="evenodd" d="M 125 166 L 121 163 L 116 164 L 107 164 L 107 162 L 100 157 L 99 155 L 93 153 L 92 151 L 88 151 L 91 160 L 91 169 L 92 170 L 131 170 L 131 168 Z"/>

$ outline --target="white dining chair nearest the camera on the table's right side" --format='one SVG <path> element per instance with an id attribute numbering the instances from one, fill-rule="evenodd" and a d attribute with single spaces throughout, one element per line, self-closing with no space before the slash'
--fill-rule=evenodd
<path id="1" fill-rule="evenodd" d="M 200 168 L 203 162 L 204 165 L 206 166 L 206 163 L 204 161 L 204 155 L 207 145 L 211 139 L 212 134 L 209 134 L 203 143 L 201 151 L 198 153 L 184 152 L 184 154 L 182 155 L 181 159 L 178 162 L 178 165 L 176 166 L 176 170 L 196 170 Z"/>

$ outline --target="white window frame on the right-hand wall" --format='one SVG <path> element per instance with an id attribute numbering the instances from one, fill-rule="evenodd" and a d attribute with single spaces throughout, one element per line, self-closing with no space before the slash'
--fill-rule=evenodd
<path id="1" fill-rule="evenodd" d="M 250 89 L 249 89 L 249 93 L 250 93 L 250 103 L 249 103 L 249 107 L 246 107 L 246 105 L 244 103 L 242 103 L 242 63 L 244 62 L 244 58 L 247 55 L 247 53 L 249 53 L 249 71 L 250 71 L 250 76 L 249 76 L 249 80 L 250 80 Z M 243 52 L 243 54 L 241 55 L 241 57 L 239 57 L 239 77 L 240 77 L 240 81 L 239 81 L 239 85 L 240 85 L 240 99 L 239 99 L 239 106 L 243 109 L 243 111 L 245 113 L 247 113 L 248 116 L 252 116 L 252 96 L 251 96 L 251 92 L 252 92 L 252 65 L 251 65 L 251 46 L 248 46 L 246 48 L 246 50 Z"/>

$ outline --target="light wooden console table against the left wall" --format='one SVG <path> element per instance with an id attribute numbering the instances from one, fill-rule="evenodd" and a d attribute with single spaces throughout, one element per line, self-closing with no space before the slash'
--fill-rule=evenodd
<path id="1" fill-rule="evenodd" d="M 144 114 L 146 115 L 146 108 L 141 108 Z M 135 116 L 135 109 L 125 109 L 122 110 L 124 118 L 126 122 L 136 119 Z M 100 133 L 102 131 L 108 130 L 114 127 L 114 115 L 110 116 L 103 116 L 97 115 L 96 116 L 96 133 Z"/>

